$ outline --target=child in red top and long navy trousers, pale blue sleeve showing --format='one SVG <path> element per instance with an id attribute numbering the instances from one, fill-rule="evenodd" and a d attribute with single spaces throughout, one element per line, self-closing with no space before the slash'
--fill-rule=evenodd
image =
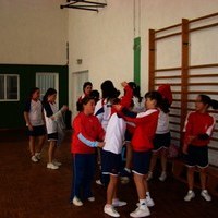
<path id="1" fill-rule="evenodd" d="M 82 206 L 81 189 L 83 197 L 94 202 L 92 181 L 95 172 L 95 148 L 102 147 L 105 131 L 98 119 L 93 114 L 95 99 L 85 97 L 82 99 L 82 111 L 75 117 L 72 128 L 71 153 L 73 155 L 73 182 L 70 202 L 75 206 Z"/>

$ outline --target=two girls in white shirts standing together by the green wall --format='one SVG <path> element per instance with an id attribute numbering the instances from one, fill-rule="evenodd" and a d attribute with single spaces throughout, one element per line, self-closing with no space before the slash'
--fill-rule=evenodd
<path id="1" fill-rule="evenodd" d="M 34 162 L 40 160 L 40 153 L 47 135 L 49 142 L 47 168 L 56 170 L 61 166 L 61 162 L 56 160 L 55 156 L 57 146 L 63 138 L 63 113 L 68 110 L 68 106 L 58 110 L 56 104 L 57 90 L 53 88 L 46 92 L 43 101 L 39 98 L 39 88 L 33 88 L 24 108 L 31 159 Z"/>

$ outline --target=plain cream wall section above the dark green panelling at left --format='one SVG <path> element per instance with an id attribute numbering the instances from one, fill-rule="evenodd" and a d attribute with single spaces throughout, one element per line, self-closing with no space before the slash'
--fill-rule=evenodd
<path id="1" fill-rule="evenodd" d="M 0 63 L 66 64 L 63 0 L 0 1 Z"/>

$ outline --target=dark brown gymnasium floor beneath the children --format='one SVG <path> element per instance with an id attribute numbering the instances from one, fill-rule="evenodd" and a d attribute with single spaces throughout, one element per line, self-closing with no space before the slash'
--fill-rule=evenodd
<path id="1" fill-rule="evenodd" d="M 70 135 L 57 153 L 62 166 L 59 170 L 48 170 L 47 143 L 43 159 L 31 161 L 27 137 L 23 131 L 0 131 L 0 218 L 107 218 L 102 208 L 106 190 L 94 183 L 94 203 L 85 202 L 83 207 L 69 204 L 71 189 Z M 170 171 L 170 169 L 169 169 Z M 196 197 L 183 201 L 186 186 L 170 174 L 166 182 L 157 178 L 149 182 L 155 207 L 150 218 L 217 218 L 218 198 L 205 202 L 196 190 Z M 119 186 L 119 196 L 128 205 L 118 208 L 121 217 L 130 217 L 137 202 L 133 182 Z"/>

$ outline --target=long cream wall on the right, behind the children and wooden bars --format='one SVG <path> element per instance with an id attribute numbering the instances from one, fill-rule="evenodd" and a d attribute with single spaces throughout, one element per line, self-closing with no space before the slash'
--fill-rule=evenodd
<path id="1" fill-rule="evenodd" d="M 135 36 L 142 37 L 143 93 L 148 88 L 148 29 L 181 23 L 183 17 L 192 20 L 215 13 L 218 7 L 218 0 L 135 0 L 134 22 L 134 0 L 107 0 L 107 3 L 99 13 L 69 10 L 70 73 L 89 70 L 95 88 L 106 78 L 112 80 L 118 87 L 121 81 L 133 80 L 135 23 Z M 202 43 L 198 44 L 202 47 Z M 205 57 L 208 55 L 217 58 L 217 53 L 209 50 Z M 195 53 L 192 57 L 192 61 L 197 62 Z M 76 64 L 76 59 L 83 59 L 83 64 Z M 180 56 L 170 52 L 162 59 L 161 64 L 171 66 L 180 62 Z"/>

